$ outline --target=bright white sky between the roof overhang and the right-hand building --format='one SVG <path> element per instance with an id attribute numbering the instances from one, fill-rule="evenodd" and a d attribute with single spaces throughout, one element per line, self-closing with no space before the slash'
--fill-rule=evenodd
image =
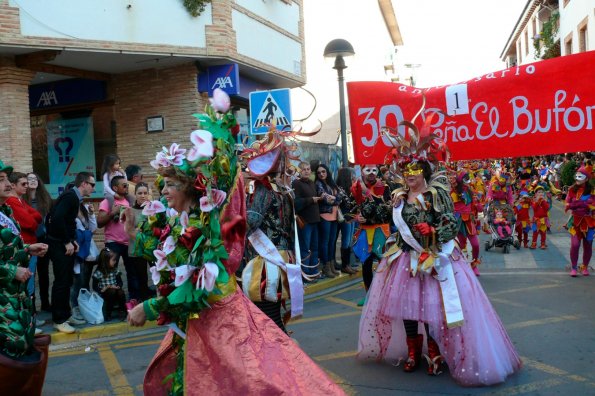
<path id="1" fill-rule="evenodd" d="M 453 84 L 505 68 L 500 54 L 526 0 L 393 0 L 404 46 L 397 65 L 418 87 Z M 408 77 L 411 69 L 401 69 Z M 401 78 L 403 81 L 403 77 Z"/>

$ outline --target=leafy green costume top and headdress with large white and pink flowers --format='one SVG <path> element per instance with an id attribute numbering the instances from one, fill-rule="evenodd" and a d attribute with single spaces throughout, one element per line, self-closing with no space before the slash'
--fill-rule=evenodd
<path id="1" fill-rule="evenodd" d="M 135 253 L 156 263 L 151 277 L 159 297 L 144 303 L 145 312 L 149 319 L 158 316 L 158 324 L 174 327 L 180 352 L 187 321 L 236 290 L 235 278 L 225 265 L 239 264 L 246 225 L 241 210 L 228 210 L 245 202 L 235 154 L 238 124 L 228 112 L 229 105 L 227 94 L 216 89 L 206 114 L 193 115 L 200 129 L 190 134 L 192 148 L 173 143 L 151 161 L 157 170 L 174 169 L 181 180 L 193 180 L 199 202 L 191 205 L 189 213 L 166 209 L 161 201 L 148 202 L 142 212 L 147 219 L 136 236 Z M 237 246 L 241 246 L 239 253 Z M 184 389 L 184 353 L 177 356 L 171 394 Z"/>

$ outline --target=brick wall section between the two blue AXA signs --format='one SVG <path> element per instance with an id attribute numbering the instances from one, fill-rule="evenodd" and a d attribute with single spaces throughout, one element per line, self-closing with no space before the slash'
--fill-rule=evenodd
<path id="1" fill-rule="evenodd" d="M 189 63 L 119 74 L 110 85 L 116 102 L 117 154 L 124 166 L 140 165 L 151 180 L 155 173 L 149 161 L 162 146 L 191 146 L 190 132 L 197 128 L 192 114 L 202 113 L 206 104 L 196 89 L 196 68 Z M 165 130 L 147 133 L 147 117 L 157 115 L 163 116 Z"/>

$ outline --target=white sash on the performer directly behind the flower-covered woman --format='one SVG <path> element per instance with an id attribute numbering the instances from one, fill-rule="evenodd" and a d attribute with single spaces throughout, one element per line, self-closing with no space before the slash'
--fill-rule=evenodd
<path id="1" fill-rule="evenodd" d="M 256 252 L 267 264 L 273 264 L 287 273 L 289 293 L 291 294 L 291 317 L 302 316 L 304 312 L 304 286 L 302 285 L 302 269 L 300 264 L 286 263 L 273 245 L 273 242 L 259 228 L 248 236 L 248 240 Z M 296 261 L 299 263 L 299 250 L 296 252 Z M 267 269 L 268 270 L 268 269 Z M 275 291 L 276 292 L 276 291 Z"/>

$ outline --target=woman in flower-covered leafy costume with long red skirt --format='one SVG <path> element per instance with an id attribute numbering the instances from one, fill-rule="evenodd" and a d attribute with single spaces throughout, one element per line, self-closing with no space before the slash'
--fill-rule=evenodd
<path id="1" fill-rule="evenodd" d="M 164 179 L 168 208 L 160 201 L 145 206 L 136 246 L 156 262 L 159 295 L 130 310 L 128 321 L 157 319 L 171 330 L 147 369 L 144 393 L 342 394 L 236 285 L 246 206 L 230 131 L 237 123 L 228 109 L 229 98 L 216 90 L 208 114 L 196 116 L 194 147 L 186 152 L 174 143 L 151 162 Z"/>

